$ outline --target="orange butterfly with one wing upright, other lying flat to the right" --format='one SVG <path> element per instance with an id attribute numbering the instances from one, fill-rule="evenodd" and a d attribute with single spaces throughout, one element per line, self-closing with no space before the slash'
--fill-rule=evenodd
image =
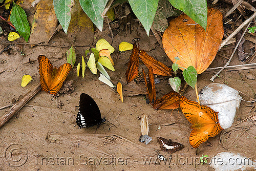
<path id="1" fill-rule="evenodd" d="M 146 80 L 146 75 L 143 69 L 142 69 L 142 73 L 144 75 L 148 98 L 150 99 L 150 103 L 152 104 L 155 110 L 179 108 L 180 95 L 175 91 L 170 91 L 169 93 L 163 95 L 162 98 L 156 100 L 156 89 L 155 89 L 155 81 L 154 81 L 152 67 L 148 69 L 149 82 L 147 82 Z"/>

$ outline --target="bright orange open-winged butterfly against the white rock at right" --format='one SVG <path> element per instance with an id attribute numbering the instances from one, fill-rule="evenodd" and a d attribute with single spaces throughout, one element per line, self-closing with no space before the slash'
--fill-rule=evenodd
<path id="1" fill-rule="evenodd" d="M 194 148 L 197 148 L 209 137 L 218 135 L 223 130 L 219 123 L 218 112 L 215 112 L 208 106 L 200 105 L 182 96 L 180 108 L 187 120 L 193 124 L 190 126 L 193 130 L 189 136 L 189 143 Z"/>

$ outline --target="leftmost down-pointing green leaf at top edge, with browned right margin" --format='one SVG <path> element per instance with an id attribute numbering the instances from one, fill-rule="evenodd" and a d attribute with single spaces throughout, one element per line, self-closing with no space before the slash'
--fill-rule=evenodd
<path id="1" fill-rule="evenodd" d="M 70 11 L 73 5 L 74 1 L 72 0 L 53 0 L 55 14 L 66 34 L 71 20 Z"/>

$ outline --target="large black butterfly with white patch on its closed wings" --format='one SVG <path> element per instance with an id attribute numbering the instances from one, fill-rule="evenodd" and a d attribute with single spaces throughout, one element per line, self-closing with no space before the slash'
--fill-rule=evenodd
<path id="1" fill-rule="evenodd" d="M 104 121 L 94 99 L 88 94 L 82 93 L 79 101 L 79 112 L 76 118 L 77 125 L 80 128 L 91 127 Z"/>

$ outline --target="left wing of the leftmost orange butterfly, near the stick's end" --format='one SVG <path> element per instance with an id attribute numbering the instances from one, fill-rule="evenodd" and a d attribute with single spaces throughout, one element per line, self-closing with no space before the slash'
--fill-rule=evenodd
<path id="1" fill-rule="evenodd" d="M 53 72 L 52 63 L 45 55 L 39 55 L 37 59 L 39 63 L 38 69 L 40 74 L 41 89 L 49 92 L 51 75 Z"/>

